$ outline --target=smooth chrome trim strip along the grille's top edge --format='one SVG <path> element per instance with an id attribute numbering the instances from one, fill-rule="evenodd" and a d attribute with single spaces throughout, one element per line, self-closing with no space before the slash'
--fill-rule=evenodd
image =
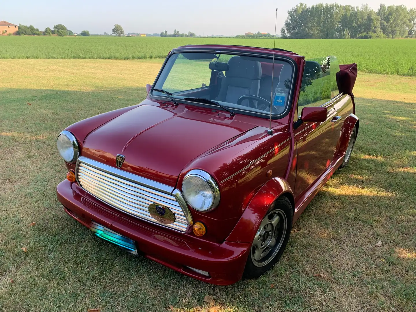
<path id="1" fill-rule="evenodd" d="M 106 173 L 111 174 L 112 176 L 116 176 L 118 178 L 121 178 L 122 180 L 127 180 L 136 184 L 140 184 L 141 186 L 148 186 L 151 187 L 153 189 L 155 189 L 156 191 L 160 191 L 166 194 L 171 194 L 173 191 L 173 188 L 170 186 L 167 186 L 165 184 L 162 183 L 158 183 L 156 181 L 152 181 L 146 178 L 143 178 L 141 176 L 136 176 L 135 174 L 126 172 L 124 170 L 121 169 L 117 169 L 117 168 L 113 168 L 107 165 L 104 165 L 102 163 L 99 163 L 98 161 L 89 159 L 87 157 L 81 156 L 78 158 L 77 161 L 77 167 L 79 165 L 79 163 L 85 163 L 88 166 L 97 168 L 100 171 L 104 171 Z"/>

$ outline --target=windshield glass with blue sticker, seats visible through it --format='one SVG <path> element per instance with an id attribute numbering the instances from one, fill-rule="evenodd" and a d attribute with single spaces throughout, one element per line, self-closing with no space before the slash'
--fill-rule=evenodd
<path id="1" fill-rule="evenodd" d="M 235 112 L 277 116 L 286 111 L 291 93 L 292 65 L 282 59 L 208 52 L 172 54 L 156 81 L 153 96 L 210 104 Z M 159 89 L 156 91 L 155 89 Z M 272 105 L 270 105 L 272 99 Z"/>

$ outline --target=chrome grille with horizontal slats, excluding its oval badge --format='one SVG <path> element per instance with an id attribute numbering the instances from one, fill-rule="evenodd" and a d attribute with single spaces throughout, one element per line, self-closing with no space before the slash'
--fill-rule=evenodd
<path id="1" fill-rule="evenodd" d="M 181 232 L 185 232 L 188 225 L 192 224 L 191 215 L 181 193 L 162 183 L 84 156 L 79 157 L 77 161 L 77 181 L 85 191 L 99 200 L 136 218 Z M 170 208 L 175 214 L 175 221 L 163 224 L 155 220 L 148 210 L 152 203 Z"/>

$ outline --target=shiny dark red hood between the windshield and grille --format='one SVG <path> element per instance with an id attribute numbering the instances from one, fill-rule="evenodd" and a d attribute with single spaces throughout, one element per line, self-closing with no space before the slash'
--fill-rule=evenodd
<path id="1" fill-rule="evenodd" d="M 190 161 L 255 127 L 210 110 L 145 102 L 89 133 L 82 156 L 116 167 L 122 154 L 121 169 L 175 187 Z"/>

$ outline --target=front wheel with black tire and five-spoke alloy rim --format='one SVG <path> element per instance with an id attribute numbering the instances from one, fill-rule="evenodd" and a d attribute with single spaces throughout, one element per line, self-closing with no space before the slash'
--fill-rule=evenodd
<path id="1" fill-rule="evenodd" d="M 244 278 L 255 278 L 267 272 L 282 256 L 292 230 L 292 205 L 282 196 L 263 218 L 251 245 Z"/>

